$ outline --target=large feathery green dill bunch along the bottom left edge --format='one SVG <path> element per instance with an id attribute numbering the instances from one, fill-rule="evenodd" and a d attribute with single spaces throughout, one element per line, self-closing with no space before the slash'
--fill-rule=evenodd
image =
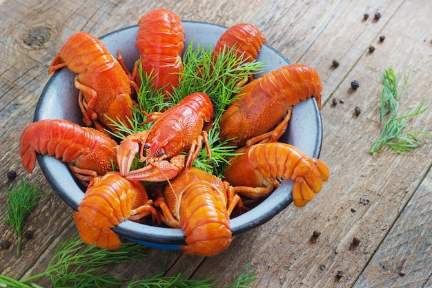
<path id="1" fill-rule="evenodd" d="M 107 268 L 112 267 L 110 265 L 144 261 L 146 255 L 142 253 L 143 249 L 143 246 L 133 242 L 122 243 L 117 250 L 101 249 L 84 243 L 79 238 L 79 234 L 75 233 L 74 236 L 57 245 L 46 271 L 21 281 L 0 275 L 0 287 L 43 288 L 34 282 L 42 277 L 49 277 L 52 287 L 119 287 L 125 283 L 129 288 L 215 287 L 213 278 L 191 280 L 182 278 L 179 272 L 174 276 L 165 276 L 164 269 L 155 276 L 149 278 L 146 274 L 139 280 L 134 280 L 135 277 L 115 278 L 110 276 L 110 271 L 107 271 Z M 246 267 L 230 287 L 250 287 L 249 284 L 255 281 L 255 278 L 252 277 L 253 272 L 244 272 Z"/>

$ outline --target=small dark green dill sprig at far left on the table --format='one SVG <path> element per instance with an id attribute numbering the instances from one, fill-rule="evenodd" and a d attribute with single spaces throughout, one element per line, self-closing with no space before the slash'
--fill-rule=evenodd
<path id="1" fill-rule="evenodd" d="M 3 211 L 2 222 L 10 224 L 12 230 L 17 235 L 17 255 L 21 253 L 21 233 L 26 222 L 26 217 L 32 213 L 39 202 L 39 198 L 48 194 L 48 190 L 40 191 L 36 184 L 28 184 L 21 179 L 18 187 L 12 187 L 11 191 L 6 191 L 8 204 Z"/>

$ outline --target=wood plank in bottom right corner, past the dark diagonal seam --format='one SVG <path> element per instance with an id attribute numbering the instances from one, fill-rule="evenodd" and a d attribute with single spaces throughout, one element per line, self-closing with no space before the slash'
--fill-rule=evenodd
<path id="1" fill-rule="evenodd" d="M 432 278 L 431 187 L 429 171 L 354 288 L 428 287 Z"/>

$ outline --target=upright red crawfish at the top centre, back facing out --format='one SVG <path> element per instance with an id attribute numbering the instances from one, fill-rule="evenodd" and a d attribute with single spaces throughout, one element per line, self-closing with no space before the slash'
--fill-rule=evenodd
<path id="1" fill-rule="evenodd" d="M 183 73 L 184 30 L 179 15 L 164 8 L 143 15 L 139 20 L 136 45 L 144 72 L 150 75 L 153 70 L 155 88 L 162 88 L 164 94 L 173 93 Z"/>

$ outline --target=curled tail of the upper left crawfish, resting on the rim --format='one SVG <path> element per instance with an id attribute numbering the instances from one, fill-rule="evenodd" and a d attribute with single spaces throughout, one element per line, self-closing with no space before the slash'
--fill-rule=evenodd
<path id="1" fill-rule="evenodd" d="M 79 32 L 71 35 L 52 60 L 48 74 L 61 66 L 68 66 L 74 73 L 93 73 L 114 65 L 115 59 L 96 37 Z M 63 64 L 63 65 L 61 65 Z"/>

